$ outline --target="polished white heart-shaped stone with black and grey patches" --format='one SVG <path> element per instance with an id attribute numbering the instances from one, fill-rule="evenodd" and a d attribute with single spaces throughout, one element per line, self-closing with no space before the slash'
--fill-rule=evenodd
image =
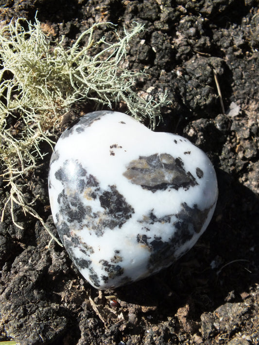
<path id="1" fill-rule="evenodd" d="M 218 188 L 211 162 L 189 140 L 99 111 L 59 138 L 49 194 L 72 261 L 91 285 L 108 289 L 186 253 L 207 228 Z"/>

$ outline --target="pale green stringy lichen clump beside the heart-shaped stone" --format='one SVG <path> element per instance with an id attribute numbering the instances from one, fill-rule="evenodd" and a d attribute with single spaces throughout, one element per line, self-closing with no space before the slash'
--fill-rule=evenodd
<path id="1" fill-rule="evenodd" d="M 115 43 L 94 39 L 95 29 L 104 28 L 113 30 Z M 10 186 L 2 219 L 10 201 L 14 223 L 16 203 L 48 230 L 21 193 L 17 178 L 26 176 L 43 158 L 40 142 L 54 144 L 50 134 L 75 101 L 93 100 L 109 107 L 124 102 L 130 115 L 149 118 L 154 129 L 165 95 L 158 102 L 139 97 L 132 86 L 143 73 L 122 67 L 130 39 L 142 30 L 142 25 L 133 23 L 121 38 L 112 23 L 97 23 L 65 48 L 62 40 L 53 42 L 41 30 L 36 18 L 35 23 L 19 18 L 0 29 L 0 158 L 3 179 Z"/>

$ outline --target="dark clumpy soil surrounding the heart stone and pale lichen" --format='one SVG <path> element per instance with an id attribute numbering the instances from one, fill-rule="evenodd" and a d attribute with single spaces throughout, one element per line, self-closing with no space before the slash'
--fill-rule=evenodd
<path id="1" fill-rule="evenodd" d="M 256 0 L 0 0 L 1 23 L 45 23 L 69 46 L 92 23 L 145 24 L 128 68 L 139 92 L 172 100 L 157 131 L 207 152 L 219 183 L 196 246 L 154 277 L 100 294 L 41 224 L 19 209 L 0 223 L 0 341 L 37 345 L 259 344 L 259 3 Z M 214 73 L 220 85 L 221 106 Z M 28 200 L 55 233 L 50 155 L 26 177 Z M 22 181 L 24 183 L 24 181 Z M 0 181 L 0 203 L 8 188 Z"/>

